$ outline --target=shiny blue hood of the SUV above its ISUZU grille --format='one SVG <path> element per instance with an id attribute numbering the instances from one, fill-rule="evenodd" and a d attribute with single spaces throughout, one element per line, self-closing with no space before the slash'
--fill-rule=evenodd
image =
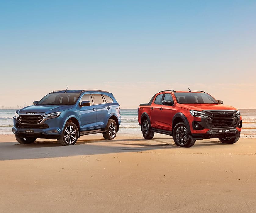
<path id="1" fill-rule="evenodd" d="M 42 112 L 45 114 L 54 113 L 54 112 L 62 112 L 65 110 L 71 109 L 71 105 L 32 105 L 24 107 L 19 110 L 20 112 Z"/>

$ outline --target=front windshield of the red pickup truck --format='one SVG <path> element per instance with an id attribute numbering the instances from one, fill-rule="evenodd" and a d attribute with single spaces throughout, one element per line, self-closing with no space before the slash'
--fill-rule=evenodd
<path id="1" fill-rule="evenodd" d="M 178 103 L 218 103 L 207 93 L 174 93 Z"/>

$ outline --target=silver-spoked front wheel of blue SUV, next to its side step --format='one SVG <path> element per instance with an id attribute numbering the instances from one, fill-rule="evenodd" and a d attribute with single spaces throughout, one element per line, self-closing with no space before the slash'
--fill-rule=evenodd
<path id="1" fill-rule="evenodd" d="M 61 134 L 61 137 L 58 138 L 58 142 L 62 146 L 74 145 L 77 142 L 79 135 L 78 128 L 76 124 L 72 122 L 67 122 L 64 126 L 64 130 Z"/>

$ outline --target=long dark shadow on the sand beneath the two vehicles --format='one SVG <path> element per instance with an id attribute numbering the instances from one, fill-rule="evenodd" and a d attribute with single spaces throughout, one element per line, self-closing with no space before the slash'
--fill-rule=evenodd
<path id="1" fill-rule="evenodd" d="M 223 145 L 217 141 L 202 141 L 193 147 Z M 193 148 L 191 147 L 191 148 Z M 90 139 L 78 140 L 73 146 L 60 146 L 57 141 L 36 141 L 33 144 L 0 143 L 0 160 L 56 158 L 78 155 L 96 155 L 123 152 L 142 152 L 157 149 L 176 149 L 171 138 L 145 139 Z"/>

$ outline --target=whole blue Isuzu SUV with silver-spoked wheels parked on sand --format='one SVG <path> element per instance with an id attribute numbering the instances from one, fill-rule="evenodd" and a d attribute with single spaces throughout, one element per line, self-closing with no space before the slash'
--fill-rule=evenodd
<path id="1" fill-rule="evenodd" d="M 112 140 L 121 123 L 120 105 L 106 91 L 59 90 L 33 104 L 13 117 L 12 131 L 20 144 L 48 138 L 62 146 L 74 145 L 80 136 L 96 133 Z"/>

